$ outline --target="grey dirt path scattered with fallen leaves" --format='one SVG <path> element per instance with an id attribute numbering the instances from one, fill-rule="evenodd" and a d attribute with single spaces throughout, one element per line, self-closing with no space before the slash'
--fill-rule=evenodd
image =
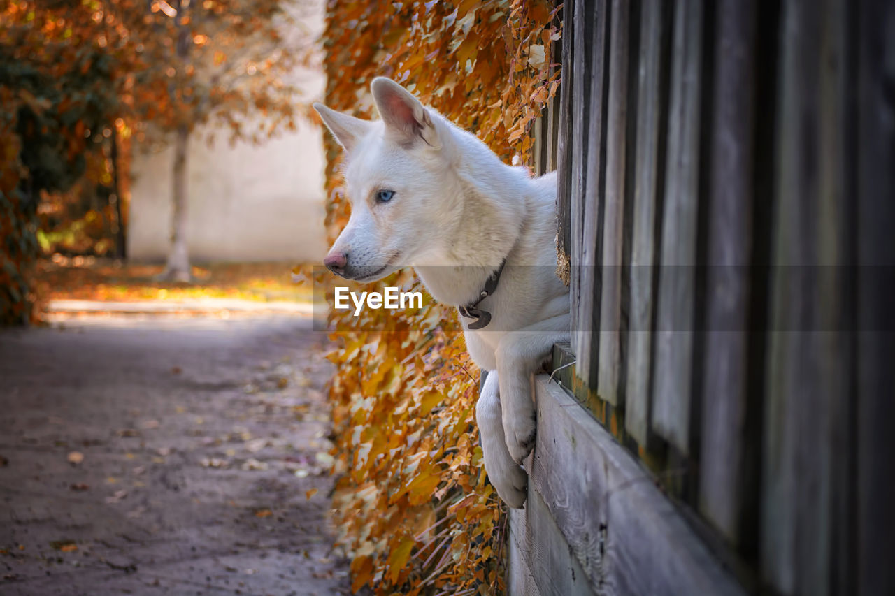
<path id="1" fill-rule="evenodd" d="M 322 341 L 271 315 L 0 331 L 0 593 L 347 593 Z"/>

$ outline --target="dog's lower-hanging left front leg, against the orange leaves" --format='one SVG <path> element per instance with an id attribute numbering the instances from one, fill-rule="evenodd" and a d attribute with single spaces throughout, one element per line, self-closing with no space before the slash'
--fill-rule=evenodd
<path id="1" fill-rule="evenodd" d="M 482 384 L 482 393 L 475 405 L 475 421 L 482 438 L 485 472 L 498 495 L 509 507 L 522 507 L 527 496 L 528 474 L 516 464 L 507 451 L 503 418 L 500 413 L 498 373 L 492 370 Z"/>

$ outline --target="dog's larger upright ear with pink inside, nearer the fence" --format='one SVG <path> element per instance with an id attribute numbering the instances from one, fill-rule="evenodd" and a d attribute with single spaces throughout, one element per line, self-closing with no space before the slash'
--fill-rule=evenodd
<path id="1" fill-rule="evenodd" d="M 371 90 L 389 136 L 402 145 L 423 140 L 430 147 L 439 146 L 429 110 L 410 91 L 385 77 L 373 79 Z"/>

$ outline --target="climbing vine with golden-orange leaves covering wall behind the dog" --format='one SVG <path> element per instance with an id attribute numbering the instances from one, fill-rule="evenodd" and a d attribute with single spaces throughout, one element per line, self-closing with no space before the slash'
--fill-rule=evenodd
<path id="1" fill-rule="evenodd" d="M 507 162 L 530 163 L 531 130 L 558 88 L 550 47 L 558 7 L 512 2 L 354 3 L 330 0 L 326 103 L 373 117 L 370 82 L 388 76 L 474 132 Z M 327 137 L 331 237 L 348 209 Z M 381 284 L 422 290 L 412 271 Z M 330 302 L 331 303 L 331 302 Z M 388 322 L 385 320 L 388 319 Z M 502 592 L 506 517 L 482 467 L 475 427 L 479 371 L 455 309 L 333 311 L 337 373 L 333 499 L 353 589 L 379 594 Z M 350 330 L 345 330 L 350 329 Z"/>

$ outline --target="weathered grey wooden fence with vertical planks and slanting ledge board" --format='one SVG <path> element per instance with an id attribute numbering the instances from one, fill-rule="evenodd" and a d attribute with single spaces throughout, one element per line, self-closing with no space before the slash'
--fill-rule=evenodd
<path id="1" fill-rule="evenodd" d="M 895 594 L 893 6 L 564 4 L 510 594 Z"/>

